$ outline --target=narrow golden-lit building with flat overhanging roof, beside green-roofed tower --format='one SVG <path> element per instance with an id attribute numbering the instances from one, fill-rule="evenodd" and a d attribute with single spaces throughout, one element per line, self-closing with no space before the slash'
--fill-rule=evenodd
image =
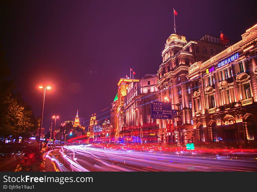
<path id="1" fill-rule="evenodd" d="M 122 135 L 120 132 L 124 130 L 124 96 L 127 94 L 127 87 L 131 82 L 139 82 L 139 79 L 120 79 L 118 82 L 118 94 L 117 94 L 117 112 L 114 114 L 117 118 L 117 127 L 115 127 L 115 141 L 119 141 Z"/>

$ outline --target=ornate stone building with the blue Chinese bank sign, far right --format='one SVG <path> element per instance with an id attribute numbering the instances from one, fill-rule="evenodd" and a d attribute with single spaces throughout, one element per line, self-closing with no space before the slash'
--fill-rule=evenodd
<path id="1" fill-rule="evenodd" d="M 241 36 L 188 68 L 195 142 L 256 143 L 257 24 Z"/>

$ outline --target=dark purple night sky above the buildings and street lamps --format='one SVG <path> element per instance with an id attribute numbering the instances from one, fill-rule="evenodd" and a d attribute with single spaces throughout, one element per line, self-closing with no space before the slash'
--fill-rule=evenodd
<path id="1" fill-rule="evenodd" d="M 166 39 L 177 33 L 189 40 L 205 34 L 232 41 L 257 23 L 255 1 L 8 1 L 2 5 L 1 45 L 15 91 L 41 116 L 89 120 L 110 115 L 119 79 L 156 74 Z M 107 108 L 106 110 L 104 110 Z M 104 110 L 104 111 L 102 111 Z M 102 111 L 102 112 L 101 112 Z M 106 112 L 106 113 L 104 113 Z M 109 117 L 107 117 L 109 118 Z"/>

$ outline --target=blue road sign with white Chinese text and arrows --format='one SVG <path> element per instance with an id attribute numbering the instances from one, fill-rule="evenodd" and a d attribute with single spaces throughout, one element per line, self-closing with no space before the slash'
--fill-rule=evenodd
<path id="1" fill-rule="evenodd" d="M 151 101 L 151 118 L 153 119 L 177 118 L 177 110 L 171 109 L 170 102 Z"/>

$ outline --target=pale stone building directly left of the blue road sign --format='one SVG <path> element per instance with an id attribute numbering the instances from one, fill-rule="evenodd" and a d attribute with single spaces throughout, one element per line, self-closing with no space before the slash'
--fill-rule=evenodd
<path id="1" fill-rule="evenodd" d="M 139 82 L 128 85 L 124 96 L 124 129 L 120 132 L 124 142 L 155 142 L 150 134 L 157 134 L 158 126 L 156 119 L 151 118 L 151 101 L 158 100 L 157 79 L 155 74 L 146 74 Z"/>

